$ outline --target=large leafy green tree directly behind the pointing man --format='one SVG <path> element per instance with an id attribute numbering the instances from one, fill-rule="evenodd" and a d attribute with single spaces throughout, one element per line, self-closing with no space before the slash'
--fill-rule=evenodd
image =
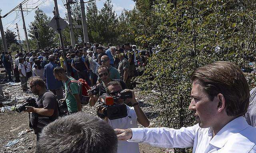
<path id="1" fill-rule="evenodd" d="M 162 116 L 158 125 L 181 128 L 195 123 L 188 106 L 190 75 L 197 67 L 231 61 L 247 69 L 249 62 L 255 62 L 255 2 L 136 0 L 147 36 L 135 30 L 135 40 L 147 40 L 162 49 L 149 58 L 140 77 L 146 90 L 158 91 L 154 93 Z M 251 88 L 256 86 L 254 75 L 248 77 L 248 83 Z M 175 149 L 178 152 L 189 151 Z"/>

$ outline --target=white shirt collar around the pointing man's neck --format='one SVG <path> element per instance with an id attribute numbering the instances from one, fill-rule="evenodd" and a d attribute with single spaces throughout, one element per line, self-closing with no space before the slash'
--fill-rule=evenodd
<path id="1" fill-rule="evenodd" d="M 233 133 L 239 133 L 249 125 L 243 116 L 240 116 L 224 126 L 210 141 L 210 145 L 222 148 Z M 210 129 L 211 130 L 211 129 Z"/>

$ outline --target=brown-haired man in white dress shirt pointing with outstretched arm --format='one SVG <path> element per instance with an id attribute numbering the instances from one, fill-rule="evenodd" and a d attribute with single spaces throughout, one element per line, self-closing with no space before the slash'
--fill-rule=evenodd
<path id="1" fill-rule="evenodd" d="M 256 129 L 243 117 L 249 86 L 242 71 L 215 62 L 192 73 L 189 110 L 199 124 L 192 127 L 115 129 L 119 140 L 166 148 L 193 147 L 193 153 L 256 153 Z"/>

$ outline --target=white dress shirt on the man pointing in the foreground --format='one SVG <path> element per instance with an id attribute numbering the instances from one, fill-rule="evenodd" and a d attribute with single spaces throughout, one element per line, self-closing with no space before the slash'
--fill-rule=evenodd
<path id="1" fill-rule="evenodd" d="M 256 128 L 242 116 L 226 124 L 214 137 L 211 128 L 200 128 L 198 124 L 181 129 L 131 129 L 130 142 L 165 148 L 193 147 L 193 153 L 256 153 Z"/>

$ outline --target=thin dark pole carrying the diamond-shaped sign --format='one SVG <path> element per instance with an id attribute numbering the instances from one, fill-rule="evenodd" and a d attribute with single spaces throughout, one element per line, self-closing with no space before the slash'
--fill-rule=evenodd
<path id="1" fill-rule="evenodd" d="M 58 4 L 57 4 L 57 0 L 54 0 L 54 6 L 55 6 L 55 20 L 56 20 L 56 24 L 57 24 L 57 29 L 58 29 L 58 33 L 59 33 L 59 36 L 60 36 L 60 46 L 62 48 L 62 51 L 63 51 L 63 57 L 64 57 L 64 62 L 65 62 L 65 65 L 67 65 L 67 57 L 66 57 L 66 51 L 64 49 L 64 44 L 63 44 L 63 40 L 62 40 L 62 33 L 61 33 L 61 29 L 60 29 L 60 14 L 59 14 L 59 10 L 58 10 Z M 68 76 L 70 76 L 70 72 L 68 71 L 68 69 L 66 69 L 67 71 L 67 74 Z"/>

